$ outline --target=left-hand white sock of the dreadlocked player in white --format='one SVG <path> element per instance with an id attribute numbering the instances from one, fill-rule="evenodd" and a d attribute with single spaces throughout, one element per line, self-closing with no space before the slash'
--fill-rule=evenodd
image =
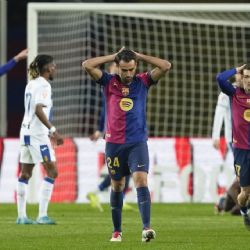
<path id="1" fill-rule="evenodd" d="M 17 182 L 17 214 L 19 218 L 27 217 L 27 188 L 28 183 L 18 180 Z"/>

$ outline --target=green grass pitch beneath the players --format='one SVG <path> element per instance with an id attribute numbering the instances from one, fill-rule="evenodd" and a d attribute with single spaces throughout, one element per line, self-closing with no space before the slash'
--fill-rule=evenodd
<path id="1" fill-rule="evenodd" d="M 136 208 L 136 205 L 133 205 Z M 28 205 L 37 216 L 37 205 Z M 213 204 L 152 204 L 156 239 L 141 242 L 138 211 L 123 212 L 123 241 L 109 242 L 112 223 L 108 205 L 101 213 L 88 204 L 50 204 L 57 225 L 16 225 L 16 206 L 0 204 L 0 249 L 250 249 L 250 232 L 240 216 L 214 215 Z"/>

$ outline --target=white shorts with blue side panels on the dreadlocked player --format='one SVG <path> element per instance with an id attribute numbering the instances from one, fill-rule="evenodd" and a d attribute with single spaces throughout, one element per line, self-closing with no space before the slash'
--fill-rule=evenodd
<path id="1" fill-rule="evenodd" d="M 48 136 L 20 136 L 20 162 L 37 164 L 39 162 L 56 161 L 55 151 Z"/>

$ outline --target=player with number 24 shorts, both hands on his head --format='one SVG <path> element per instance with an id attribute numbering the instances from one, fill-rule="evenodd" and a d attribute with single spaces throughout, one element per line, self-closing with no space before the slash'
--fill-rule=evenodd
<path id="1" fill-rule="evenodd" d="M 99 69 L 115 61 L 118 74 Z M 138 61 L 154 66 L 150 72 L 136 74 Z M 163 77 L 171 64 L 163 59 L 122 48 L 118 53 L 83 62 L 83 68 L 104 88 L 106 105 L 106 163 L 111 177 L 110 205 L 114 230 L 110 241 L 122 240 L 122 206 L 125 176 L 131 173 L 143 223 L 142 241 L 155 238 L 150 226 L 148 190 L 149 155 L 147 146 L 146 100 L 151 85 Z"/>

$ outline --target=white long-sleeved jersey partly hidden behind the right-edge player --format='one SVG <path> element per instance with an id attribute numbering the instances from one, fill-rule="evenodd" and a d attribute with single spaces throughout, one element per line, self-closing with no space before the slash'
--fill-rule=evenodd
<path id="1" fill-rule="evenodd" d="M 220 139 L 220 132 L 221 132 L 223 122 L 224 122 L 224 128 L 225 128 L 224 134 L 225 134 L 226 142 L 231 143 L 232 142 L 232 121 L 231 121 L 230 99 L 226 94 L 221 92 L 219 94 L 217 105 L 215 108 L 213 131 L 212 131 L 213 140 Z"/>

